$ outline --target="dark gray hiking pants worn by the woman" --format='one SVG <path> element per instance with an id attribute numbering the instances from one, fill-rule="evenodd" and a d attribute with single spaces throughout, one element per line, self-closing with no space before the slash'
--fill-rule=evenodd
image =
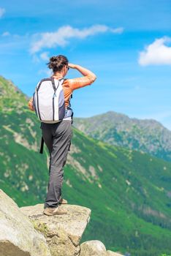
<path id="1" fill-rule="evenodd" d="M 49 182 L 44 208 L 56 208 L 61 199 L 63 167 L 72 138 L 72 123 L 62 120 L 56 124 L 41 123 L 42 137 L 50 153 Z"/>

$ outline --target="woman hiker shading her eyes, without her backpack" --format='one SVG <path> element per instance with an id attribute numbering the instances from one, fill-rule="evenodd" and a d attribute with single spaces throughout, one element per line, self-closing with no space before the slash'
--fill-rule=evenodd
<path id="1" fill-rule="evenodd" d="M 41 121 L 40 126 L 42 138 L 50 153 L 49 181 L 43 213 L 46 215 L 66 214 L 67 211 L 61 208 L 61 204 L 67 203 L 67 200 L 61 195 L 61 187 L 64 178 L 63 168 L 66 164 L 66 157 L 72 139 L 73 112 L 70 99 L 75 89 L 80 89 L 94 83 L 96 75 L 80 65 L 69 63 L 66 56 L 63 55 L 51 57 L 47 65 L 50 69 L 53 69 L 53 75 L 50 79 L 55 80 L 56 83 L 66 76 L 69 68 L 77 69 L 83 75 L 80 78 L 64 79 L 62 81 L 65 107 L 64 118 L 54 124 L 47 124 Z M 28 102 L 28 108 L 33 111 L 35 110 L 33 97 Z"/>

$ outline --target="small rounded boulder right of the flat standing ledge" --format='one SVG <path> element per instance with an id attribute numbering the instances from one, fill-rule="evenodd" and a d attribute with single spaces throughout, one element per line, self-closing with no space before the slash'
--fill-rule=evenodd
<path id="1" fill-rule="evenodd" d="M 101 241 L 86 241 L 80 245 L 80 256 L 107 256 L 107 251 Z"/>

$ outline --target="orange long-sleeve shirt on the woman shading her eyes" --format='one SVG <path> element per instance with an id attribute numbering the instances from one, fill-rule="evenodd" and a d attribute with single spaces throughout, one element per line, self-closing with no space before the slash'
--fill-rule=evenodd
<path id="1" fill-rule="evenodd" d="M 55 77 L 58 79 L 57 77 Z M 96 75 L 94 73 L 89 72 L 88 75 L 83 76 L 82 78 L 73 78 L 73 79 L 66 79 L 62 84 L 64 89 L 64 99 L 65 99 L 65 108 L 69 105 L 69 97 L 71 96 L 72 92 L 76 89 L 80 89 L 84 86 L 89 86 L 91 83 L 94 83 L 96 80 Z M 34 111 L 33 105 L 33 97 L 28 102 L 28 108 Z"/>

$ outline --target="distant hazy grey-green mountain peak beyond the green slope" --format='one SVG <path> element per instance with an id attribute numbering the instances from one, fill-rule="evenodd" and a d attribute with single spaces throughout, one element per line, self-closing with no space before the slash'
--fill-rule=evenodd
<path id="1" fill-rule="evenodd" d="M 110 111 L 90 118 L 75 118 L 74 126 L 110 145 L 143 151 L 171 161 L 171 131 L 158 121 L 129 118 Z"/>

